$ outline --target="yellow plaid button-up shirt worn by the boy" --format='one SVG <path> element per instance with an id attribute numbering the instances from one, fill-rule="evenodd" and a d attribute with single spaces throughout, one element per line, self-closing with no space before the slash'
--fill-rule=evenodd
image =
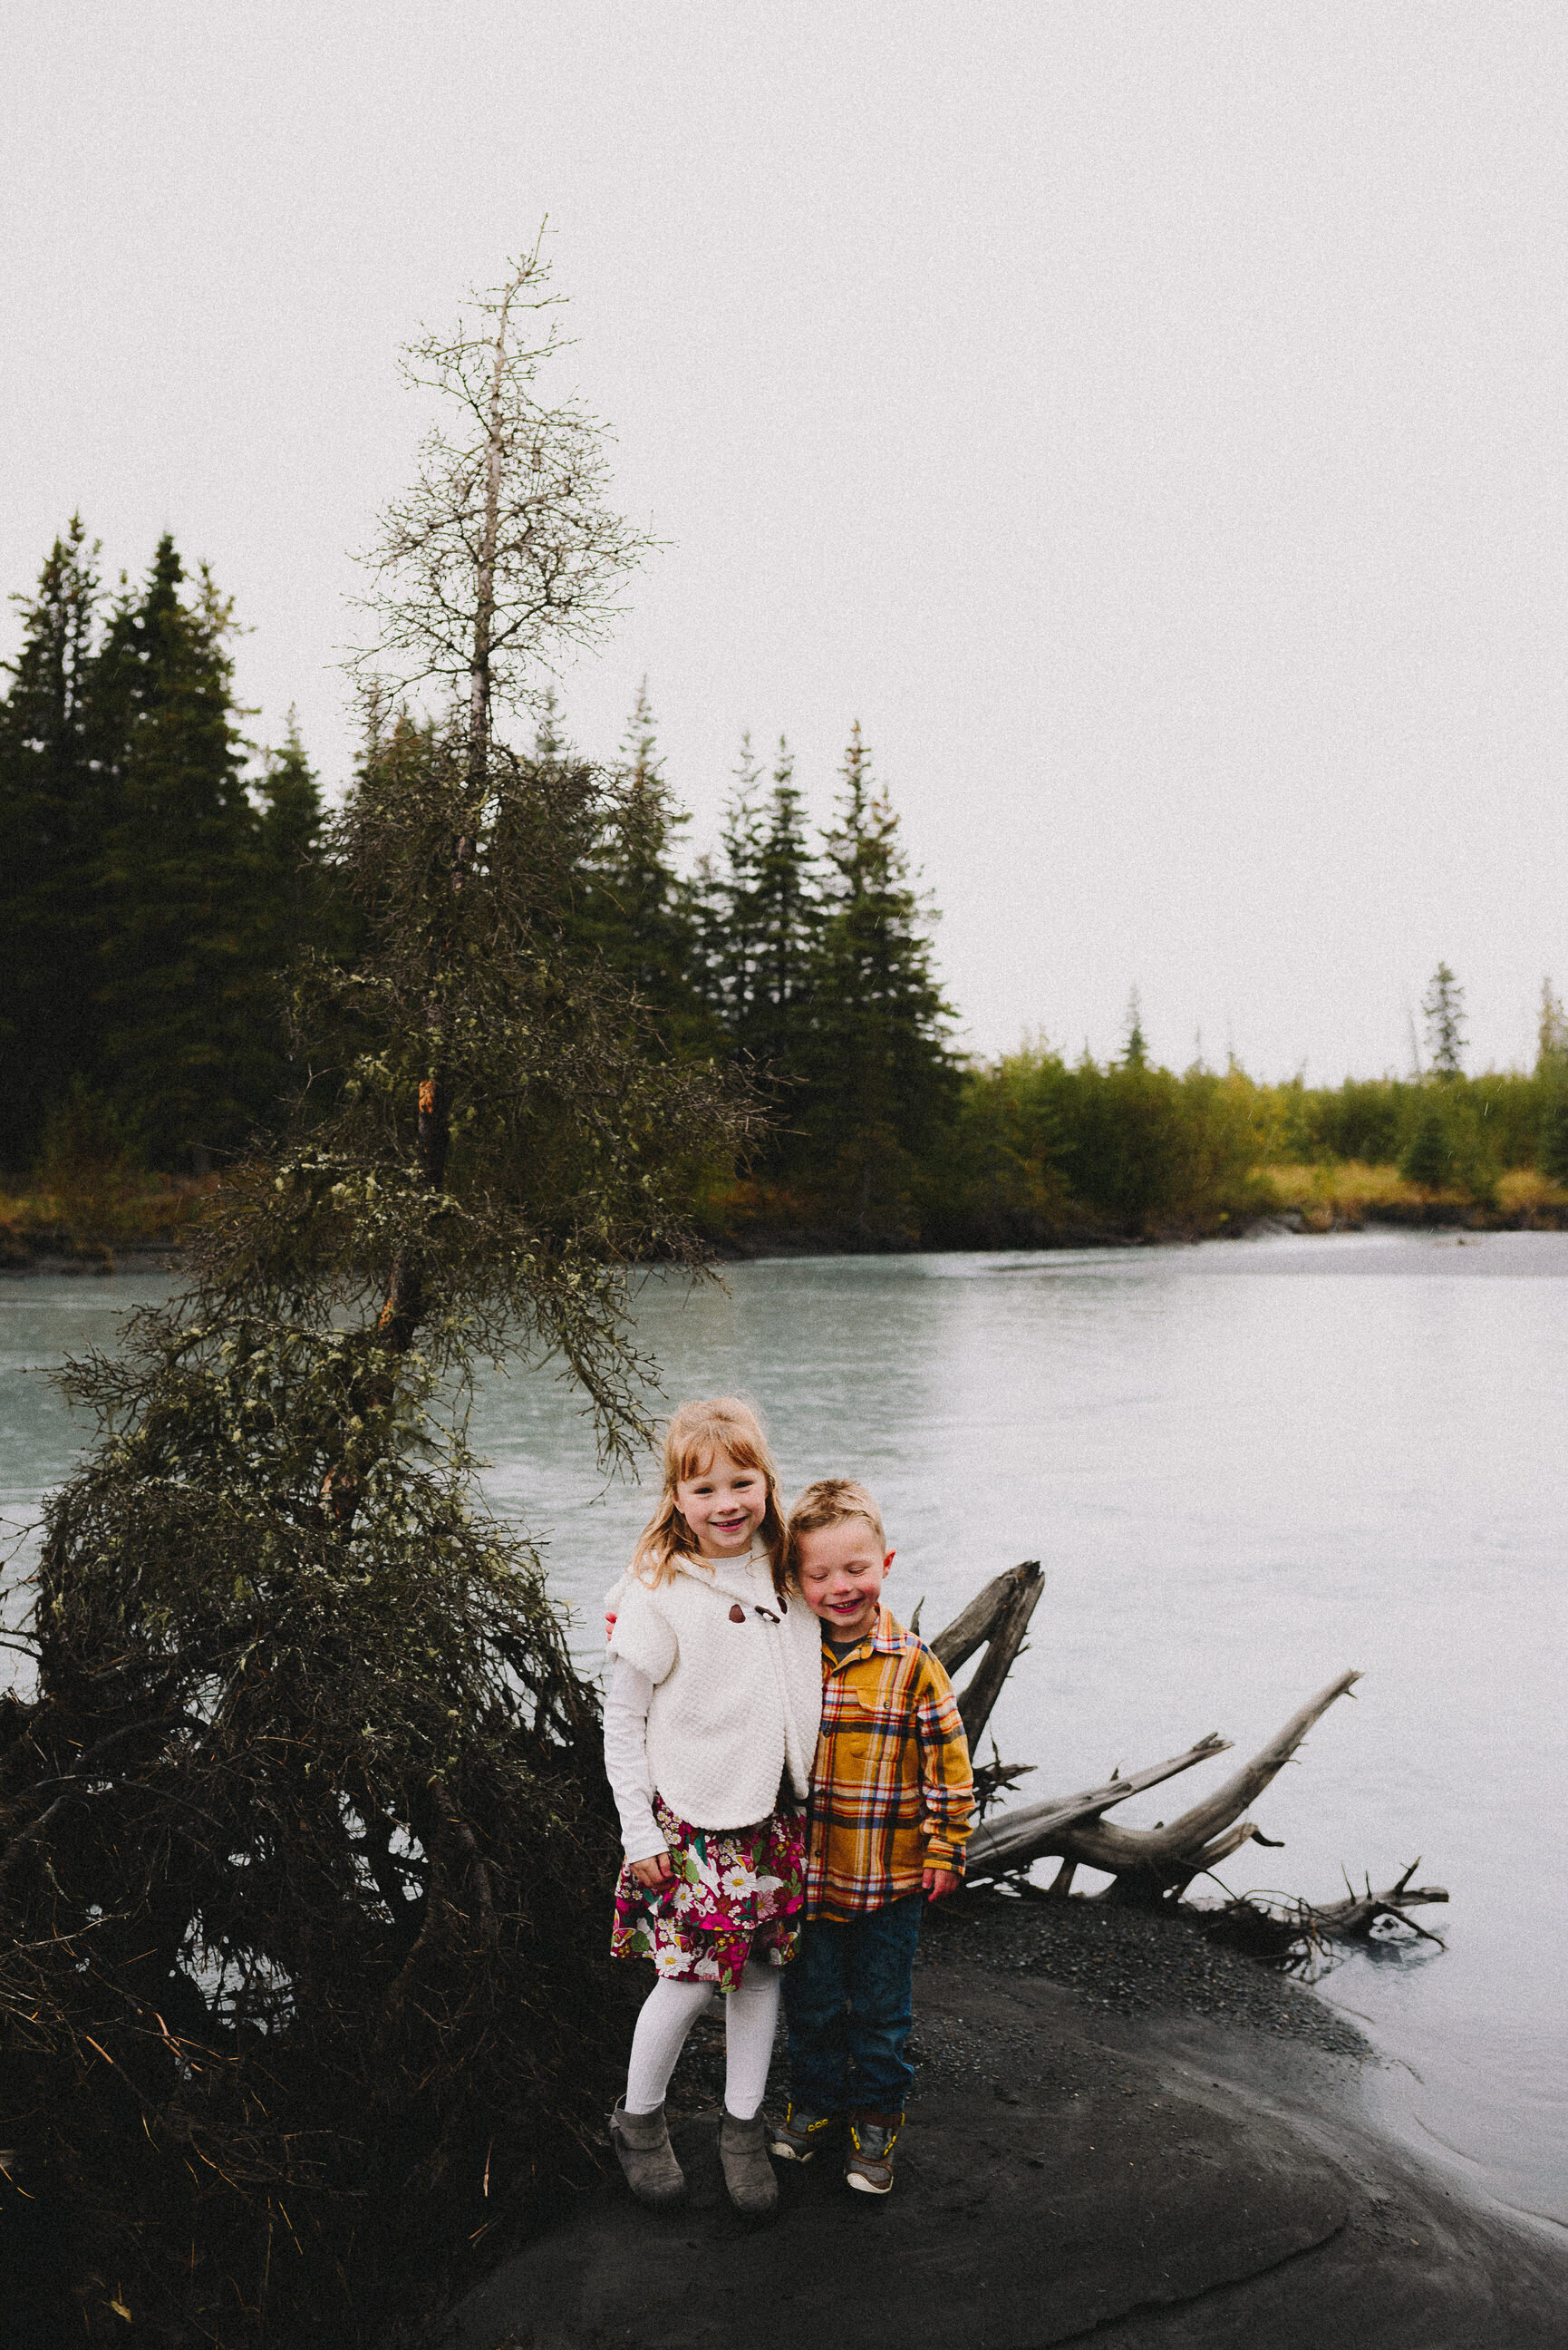
<path id="1" fill-rule="evenodd" d="M 806 1918 L 860 1918 L 964 1871 L 976 1788 L 952 1683 L 886 1607 L 844 1659 L 823 1640 Z"/>

